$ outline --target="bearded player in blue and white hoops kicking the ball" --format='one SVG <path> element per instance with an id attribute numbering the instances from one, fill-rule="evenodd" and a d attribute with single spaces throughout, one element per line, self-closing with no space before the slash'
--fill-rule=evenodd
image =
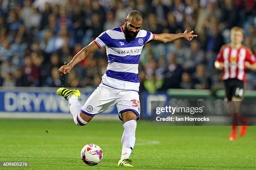
<path id="1" fill-rule="evenodd" d="M 77 99 L 79 90 L 61 87 L 57 90 L 70 103 L 70 112 L 76 125 L 86 125 L 92 117 L 113 105 L 118 108 L 119 119 L 123 121 L 122 155 L 118 166 L 133 166 L 129 157 L 135 144 L 136 125 L 140 118 L 138 63 L 145 43 L 152 40 L 171 42 L 179 38 L 191 41 L 193 31 L 180 34 L 153 34 L 141 30 L 142 15 L 139 11 L 131 11 L 124 20 L 124 25 L 102 32 L 88 46 L 77 53 L 67 65 L 59 68 L 59 72 L 67 74 L 77 63 L 98 48 L 106 47 L 108 67 L 102 76 L 102 82 L 82 106 Z"/>

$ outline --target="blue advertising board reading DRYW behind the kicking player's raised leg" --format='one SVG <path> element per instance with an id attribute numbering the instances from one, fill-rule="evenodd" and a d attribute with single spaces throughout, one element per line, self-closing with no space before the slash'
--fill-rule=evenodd
<path id="1" fill-rule="evenodd" d="M 56 89 L 55 89 L 56 90 Z M 56 94 L 55 90 L 40 90 L 40 88 L 0 90 L 0 112 L 16 113 L 69 113 L 69 102 Z M 83 105 L 92 91 L 81 91 L 79 101 Z M 116 107 L 102 112 L 117 114 Z"/>

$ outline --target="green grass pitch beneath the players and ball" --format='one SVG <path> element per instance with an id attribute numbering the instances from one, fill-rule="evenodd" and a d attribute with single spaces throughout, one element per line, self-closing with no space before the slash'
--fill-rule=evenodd
<path id="1" fill-rule="evenodd" d="M 255 126 L 248 127 L 246 136 L 229 141 L 229 126 L 156 126 L 138 121 L 133 168 L 117 166 L 122 133 L 118 121 L 92 120 L 79 127 L 72 120 L 1 119 L 0 161 L 29 162 L 28 168 L 19 170 L 256 169 Z M 90 167 L 80 159 L 88 143 L 102 148 L 99 165 Z"/>

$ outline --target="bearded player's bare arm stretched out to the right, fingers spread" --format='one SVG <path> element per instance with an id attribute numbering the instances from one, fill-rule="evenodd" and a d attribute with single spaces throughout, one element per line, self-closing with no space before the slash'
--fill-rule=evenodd
<path id="1" fill-rule="evenodd" d="M 194 37 L 197 37 L 197 35 L 192 34 L 194 31 L 187 32 L 187 30 L 184 33 L 179 34 L 168 34 L 168 33 L 162 33 L 162 34 L 155 34 L 154 40 L 161 41 L 161 42 L 172 42 L 174 40 L 177 40 L 179 38 L 184 38 L 185 40 L 191 41 Z"/>

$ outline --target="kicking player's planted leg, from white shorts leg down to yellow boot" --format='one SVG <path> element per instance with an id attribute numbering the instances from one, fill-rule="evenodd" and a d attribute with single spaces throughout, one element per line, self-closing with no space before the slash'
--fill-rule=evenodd
<path id="1" fill-rule="evenodd" d="M 138 92 L 123 92 L 117 103 L 119 118 L 123 121 L 122 154 L 118 166 L 132 166 L 129 160 L 135 145 L 135 133 L 140 117 L 140 102 Z"/>

